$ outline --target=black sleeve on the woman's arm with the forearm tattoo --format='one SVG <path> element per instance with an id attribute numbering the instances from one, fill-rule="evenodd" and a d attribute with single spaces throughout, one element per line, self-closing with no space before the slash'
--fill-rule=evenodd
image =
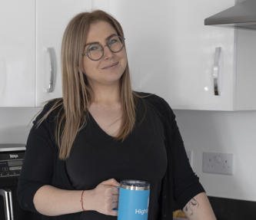
<path id="1" fill-rule="evenodd" d="M 171 169 L 169 170 L 171 170 L 171 176 L 173 177 L 174 199 L 177 208 L 183 209 L 190 199 L 198 193 L 204 192 L 204 188 L 201 186 L 198 176 L 191 169 L 181 133 L 175 120 L 175 113 L 162 98 L 161 109 L 165 111 L 165 135 L 167 147 L 171 153 Z"/>

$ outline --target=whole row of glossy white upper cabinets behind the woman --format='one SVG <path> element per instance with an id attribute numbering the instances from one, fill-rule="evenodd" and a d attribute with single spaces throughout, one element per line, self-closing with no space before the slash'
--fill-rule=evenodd
<path id="1" fill-rule="evenodd" d="M 62 96 L 60 51 L 68 21 L 101 8 L 121 22 L 134 90 L 174 109 L 255 110 L 256 31 L 204 26 L 235 0 L 3 0 L 0 2 L 0 107 L 42 106 Z M 50 50 L 48 48 L 51 48 Z M 214 95 L 215 48 L 219 96 Z M 51 68 L 50 53 L 55 56 Z M 55 89 L 48 92 L 56 70 Z"/>

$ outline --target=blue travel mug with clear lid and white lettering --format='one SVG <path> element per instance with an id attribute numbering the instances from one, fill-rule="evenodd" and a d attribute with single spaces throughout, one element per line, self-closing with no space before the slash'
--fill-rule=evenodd
<path id="1" fill-rule="evenodd" d="M 150 183 L 124 179 L 120 182 L 118 220 L 148 220 Z"/>

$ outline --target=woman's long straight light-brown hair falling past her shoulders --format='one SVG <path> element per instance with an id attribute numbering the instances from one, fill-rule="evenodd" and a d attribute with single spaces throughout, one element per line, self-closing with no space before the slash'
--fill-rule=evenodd
<path id="1" fill-rule="evenodd" d="M 107 21 L 115 28 L 118 35 L 124 38 L 119 22 L 105 11 L 82 12 L 69 21 L 62 38 L 63 98 L 55 99 L 51 109 L 37 123 L 40 126 L 42 121 L 53 110 L 59 109 L 55 127 L 55 139 L 60 159 L 67 159 L 70 155 L 75 136 L 86 124 L 88 106 L 92 102 L 93 90 L 85 76 L 82 54 L 88 30 L 91 23 L 95 21 Z M 122 122 L 121 130 L 119 130 L 118 135 L 114 139 L 123 141 L 135 126 L 135 105 L 137 98 L 141 96 L 131 90 L 128 63 L 119 81 Z"/>

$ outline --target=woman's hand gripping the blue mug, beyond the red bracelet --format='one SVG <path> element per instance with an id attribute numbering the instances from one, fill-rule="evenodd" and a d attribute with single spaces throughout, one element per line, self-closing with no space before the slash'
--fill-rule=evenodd
<path id="1" fill-rule="evenodd" d="M 113 210 L 118 209 L 119 189 L 116 186 L 120 186 L 120 183 L 115 179 L 108 179 L 92 189 L 90 204 L 88 204 L 90 209 L 105 215 L 117 216 L 118 212 Z"/>

